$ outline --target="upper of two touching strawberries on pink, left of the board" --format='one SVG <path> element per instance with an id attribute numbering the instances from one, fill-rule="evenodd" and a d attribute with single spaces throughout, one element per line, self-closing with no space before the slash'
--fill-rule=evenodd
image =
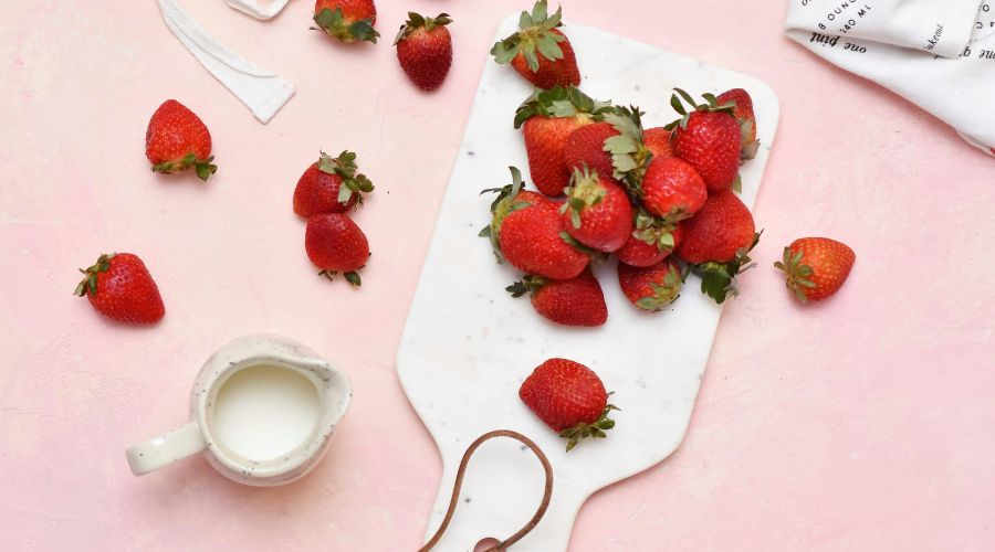
<path id="1" fill-rule="evenodd" d="M 322 151 L 294 189 L 294 212 L 308 217 L 318 213 L 345 213 L 371 192 L 373 182 L 356 172 L 356 153 L 343 151 L 333 158 Z"/>

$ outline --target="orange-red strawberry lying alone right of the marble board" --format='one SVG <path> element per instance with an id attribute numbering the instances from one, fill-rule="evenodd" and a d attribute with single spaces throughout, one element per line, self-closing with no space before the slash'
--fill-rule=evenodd
<path id="1" fill-rule="evenodd" d="M 857 255 L 849 246 L 828 237 L 803 237 L 784 248 L 774 266 L 787 274 L 787 288 L 802 302 L 819 301 L 835 294 Z"/>

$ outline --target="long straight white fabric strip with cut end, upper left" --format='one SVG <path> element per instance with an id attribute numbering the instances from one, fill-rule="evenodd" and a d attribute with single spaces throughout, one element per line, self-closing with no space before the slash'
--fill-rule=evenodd
<path id="1" fill-rule="evenodd" d="M 159 0 L 166 26 L 214 78 L 268 123 L 294 95 L 294 85 L 275 73 L 256 67 L 227 50 L 209 35 L 175 0 Z"/>

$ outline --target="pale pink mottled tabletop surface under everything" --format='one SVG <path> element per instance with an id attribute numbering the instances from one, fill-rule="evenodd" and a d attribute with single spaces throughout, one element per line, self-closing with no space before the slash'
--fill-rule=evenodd
<path id="1" fill-rule="evenodd" d="M 454 15 L 453 70 L 430 95 L 389 40 L 343 47 L 307 32 L 308 2 L 270 23 L 186 3 L 297 86 L 270 125 L 151 1 L 0 6 L 4 548 L 413 550 L 440 464 L 395 351 L 494 28 L 531 2 L 381 1 L 385 39 L 408 9 Z M 755 212 L 760 267 L 725 309 L 688 437 L 596 495 L 570 550 L 995 548 L 993 160 L 783 38 L 782 1 L 565 3 L 574 21 L 756 75 L 783 104 Z M 145 126 L 169 97 L 211 129 L 208 184 L 148 171 Z M 360 291 L 313 274 L 291 211 L 318 149 L 344 148 L 377 183 L 356 214 L 375 252 Z M 481 188 L 503 179 L 482 174 Z M 771 264 L 813 234 L 858 261 L 836 298 L 800 308 Z M 161 323 L 117 326 L 72 297 L 75 269 L 109 251 L 145 258 Z M 134 478 L 124 448 L 182 423 L 202 361 L 254 331 L 349 371 L 355 402 L 324 463 L 275 489 L 202 458 Z"/>

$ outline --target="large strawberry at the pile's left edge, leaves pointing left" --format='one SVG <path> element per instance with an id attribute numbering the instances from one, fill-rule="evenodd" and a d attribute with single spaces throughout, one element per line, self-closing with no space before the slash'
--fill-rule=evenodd
<path id="1" fill-rule="evenodd" d="M 512 184 L 499 191 L 491 204 L 491 225 L 480 235 L 491 238 L 499 262 L 506 259 L 515 268 L 552 279 L 570 279 L 590 262 L 590 254 L 563 230 L 557 205 L 535 194 L 520 201 L 522 172 L 512 167 Z"/>

